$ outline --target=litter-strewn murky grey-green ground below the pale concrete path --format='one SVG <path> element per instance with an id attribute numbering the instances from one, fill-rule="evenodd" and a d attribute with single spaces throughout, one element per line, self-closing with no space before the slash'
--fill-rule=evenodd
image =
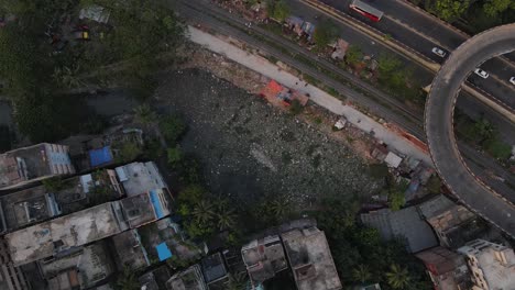
<path id="1" fill-rule="evenodd" d="M 187 121 L 180 145 L 199 157 L 213 193 L 245 203 L 284 194 L 310 209 L 324 194 L 369 197 L 380 188 L 351 148 L 229 81 L 187 68 L 162 83 L 158 107 Z"/>

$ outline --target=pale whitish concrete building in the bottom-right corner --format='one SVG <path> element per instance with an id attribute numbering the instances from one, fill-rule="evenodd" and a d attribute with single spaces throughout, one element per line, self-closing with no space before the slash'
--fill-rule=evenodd
<path id="1" fill-rule="evenodd" d="M 475 239 L 458 249 L 467 257 L 473 290 L 515 289 L 515 254 L 512 248 Z"/>

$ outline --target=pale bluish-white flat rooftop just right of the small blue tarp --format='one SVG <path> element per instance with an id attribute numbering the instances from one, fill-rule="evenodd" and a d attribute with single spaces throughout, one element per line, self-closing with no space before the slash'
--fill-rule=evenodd
<path id="1" fill-rule="evenodd" d="M 131 163 L 117 167 L 118 179 L 128 197 L 167 188 L 154 163 Z"/>

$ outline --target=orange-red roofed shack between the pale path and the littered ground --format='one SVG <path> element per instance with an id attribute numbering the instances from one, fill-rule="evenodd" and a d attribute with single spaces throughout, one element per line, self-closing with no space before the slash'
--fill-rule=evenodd
<path id="1" fill-rule="evenodd" d="M 288 107 L 293 101 L 298 101 L 302 107 L 305 107 L 309 101 L 306 94 L 303 94 L 296 90 L 291 90 L 275 80 L 271 80 L 266 87 L 264 87 L 260 96 L 265 98 L 269 102 L 280 107 Z"/>

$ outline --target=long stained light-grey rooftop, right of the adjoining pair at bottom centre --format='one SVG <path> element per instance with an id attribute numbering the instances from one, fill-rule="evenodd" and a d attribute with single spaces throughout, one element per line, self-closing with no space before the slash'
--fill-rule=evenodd
<path id="1" fill-rule="evenodd" d="M 317 227 L 281 235 L 298 290 L 341 289 L 326 235 Z"/>

